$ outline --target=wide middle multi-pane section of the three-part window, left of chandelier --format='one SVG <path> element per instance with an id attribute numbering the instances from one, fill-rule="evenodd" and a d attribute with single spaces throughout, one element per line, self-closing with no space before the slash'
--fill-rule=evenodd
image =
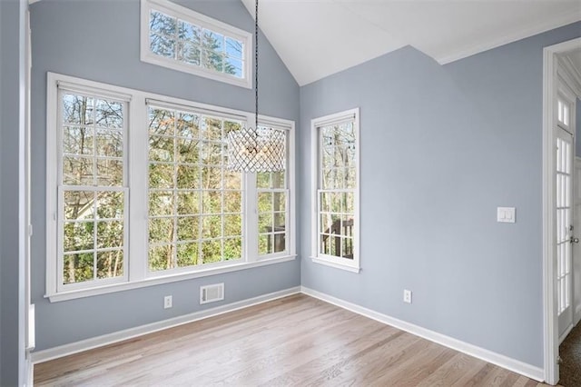
<path id="1" fill-rule="evenodd" d="M 242 257 L 241 174 L 225 139 L 241 122 L 150 105 L 149 269 Z"/>

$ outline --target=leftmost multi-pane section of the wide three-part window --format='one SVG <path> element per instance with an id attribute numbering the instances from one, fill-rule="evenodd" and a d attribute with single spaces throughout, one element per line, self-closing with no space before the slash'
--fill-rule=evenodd
<path id="1" fill-rule="evenodd" d="M 125 103 L 59 90 L 58 287 L 123 280 Z"/>

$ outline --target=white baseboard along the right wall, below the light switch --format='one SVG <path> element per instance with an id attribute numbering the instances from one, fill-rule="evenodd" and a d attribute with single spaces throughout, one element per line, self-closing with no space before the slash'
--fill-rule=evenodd
<path id="1" fill-rule="evenodd" d="M 484 348 L 478 347 L 468 342 L 459 341 L 458 339 L 454 339 L 453 337 L 449 337 L 438 332 L 430 331 L 426 328 L 422 328 L 412 323 L 406 323 L 402 320 L 390 317 L 386 314 L 372 311 L 370 309 L 359 306 L 355 303 L 349 303 L 339 298 L 330 296 L 329 294 L 320 293 L 304 286 L 300 287 L 300 292 L 310 295 L 311 297 L 318 298 L 327 303 L 332 303 L 334 305 L 340 306 L 341 308 L 347 309 L 351 312 L 361 314 L 365 317 L 369 317 L 370 319 L 376 320 L 379 323 L 385 323 L 395 328 L 398 328 L 402 331 L 415 334 L 416 336 L 427 339 L 430 342 L 437 342 L 438 344 L 444 345 L 458 352 L 466 353 L 470 356 L 474 356 L 485 362 L 491 362 L 499 367 L 506 368 L 509 371 L 517 372 L 520 373 L 521 375 L 527 376 L 527 378 L 534 379 L 538 382 L 544 382 L 545 372 L 543 371 L 543 369 L 531 364 L 527 364 L 526 362 L 517 361 L 515 359 L 509 358 L 497 352 L 488 351 Z"/>

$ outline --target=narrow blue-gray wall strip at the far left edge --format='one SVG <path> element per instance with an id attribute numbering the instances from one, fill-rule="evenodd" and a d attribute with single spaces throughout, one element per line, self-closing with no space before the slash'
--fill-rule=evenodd
<path id="1" fill-rule="evenodd" d="M 26 2 L 0 1 L 0 385 L 25 382 L 25 263 L 19 255 Z M 24 133 L 24 132 L 22 132 Z"/>

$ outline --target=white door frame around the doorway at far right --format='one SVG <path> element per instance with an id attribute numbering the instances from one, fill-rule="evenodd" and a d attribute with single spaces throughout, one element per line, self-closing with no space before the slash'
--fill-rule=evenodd
<path id="1" fill-rule="evenodd" d="M 558 320 L 556 313 L 555 256 L 555 97 L 557 91 L 557 56 L 578 49 L 581 37 L 543 49 L 543 315 L 545 381 L 559 380 Z M 575 146 L 575 138 L 574 138 Z"/>

